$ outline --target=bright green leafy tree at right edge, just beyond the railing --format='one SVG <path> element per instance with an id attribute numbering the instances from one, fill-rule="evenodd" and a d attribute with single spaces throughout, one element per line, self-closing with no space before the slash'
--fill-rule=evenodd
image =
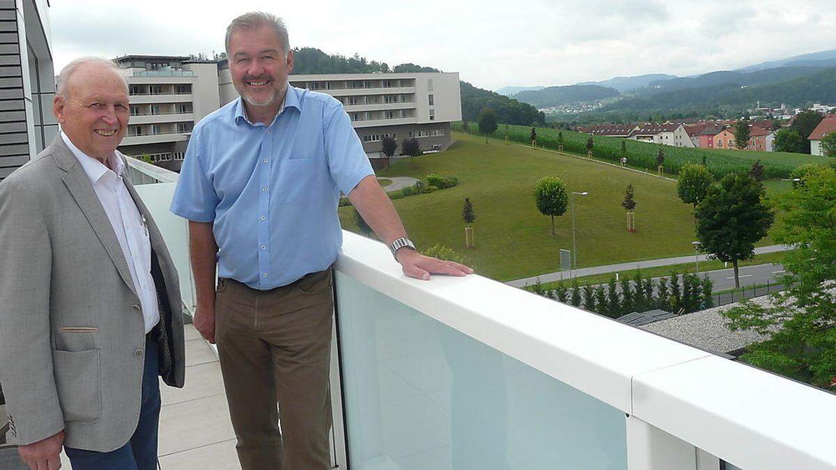
<path id="1" fill-rule="evenodd" d="M 742 360 L 826 387 L 836 376 L 836 171 L 809 173 L 777 207 L 786 216 L 775 241 L 797 247 L 782 260 L 787 289 L 772 294 L 771 305 L 746 301 L 722 314 L 732 330 L 768 336 Z"/>

